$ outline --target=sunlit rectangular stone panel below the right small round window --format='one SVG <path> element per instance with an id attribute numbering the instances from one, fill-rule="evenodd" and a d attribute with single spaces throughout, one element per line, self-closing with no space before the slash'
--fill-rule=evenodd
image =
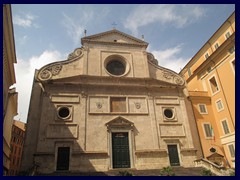
<path id="1" fill-rule="evenodd" d="M 159 124 L 161 137 L 185 137 L 182 124 Z"/>

